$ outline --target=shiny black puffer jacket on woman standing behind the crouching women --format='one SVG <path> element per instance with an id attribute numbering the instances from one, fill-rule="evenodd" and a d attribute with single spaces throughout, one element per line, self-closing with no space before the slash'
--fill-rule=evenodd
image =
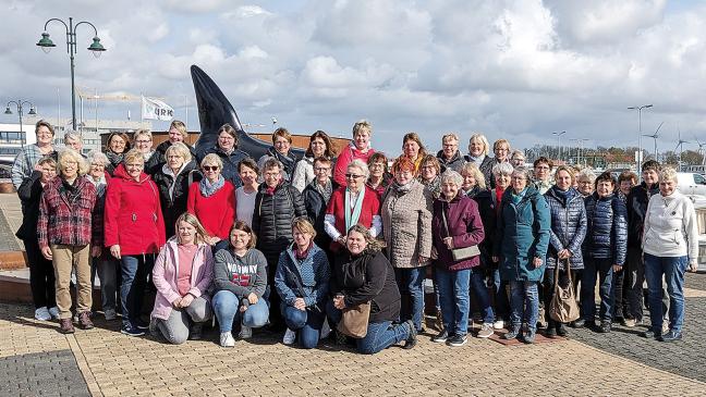
<path id="1" fill-rule="evenodd" d="M 261 184 L 255 196 L 253 232 L 257 236 L 257 249 L 263 251 L 268 269 L 273 274 L 282 252 L 293 241 L 292 220 L 305 216 L 306 208 L 302 195 L 287 182 L 280 183 L 275 193 L 268 193 L 267 184 Z"/>

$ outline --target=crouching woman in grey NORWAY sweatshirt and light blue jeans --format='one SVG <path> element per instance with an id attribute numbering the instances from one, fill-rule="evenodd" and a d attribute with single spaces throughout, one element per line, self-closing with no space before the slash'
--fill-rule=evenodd
<path id="1" fill-rule="evenodd" d="M 269 317 L 267 260 L 255 249 L 256 243 L 249 225 L 235 221 L 230 246 L 216 252 L 214 312 L 222 347 L 235 346 L 231 331 L 236 319 L 241 325 L 239 337 L 248 339 L 253 328 L 264 326 Z"/>

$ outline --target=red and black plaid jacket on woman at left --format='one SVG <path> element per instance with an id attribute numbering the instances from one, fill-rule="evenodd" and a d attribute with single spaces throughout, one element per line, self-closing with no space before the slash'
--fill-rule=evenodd
<path id="1" fill-rule="evenodd" d="M 60 193 L 62 184 L 63 179 L 56 177 L 44 187 L 37 222 L 40 248 L 54 244 L 69 246 L 90 244 L 96 187 L 84 176 L 77 177 L 74 182 L 77 196 L 70 201 L 65 194 Z"/>

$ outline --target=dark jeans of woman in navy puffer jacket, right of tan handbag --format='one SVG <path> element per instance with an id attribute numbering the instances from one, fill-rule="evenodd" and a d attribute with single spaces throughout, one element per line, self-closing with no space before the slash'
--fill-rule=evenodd
<path id="1" fill-rule="evenodd" d="M 614 274 L 612 259 L 584 257 L 583 285 L 581 286 L 581 312 L 585 321 L 595 321 L 596 317 L 596 275 L 600 295 L 600 321 L 612 321 L 614 294 L 617 285 L 612 283 Z"/>

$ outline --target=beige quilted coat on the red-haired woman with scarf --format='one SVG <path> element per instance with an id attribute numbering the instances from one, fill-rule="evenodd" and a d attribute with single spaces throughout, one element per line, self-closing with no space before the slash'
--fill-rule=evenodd
<path id="1" fill-rule="evenodd" d="M 416 179 L 407 190 L 390 185 L 381 207 L 382 232 L 387 257 L 394 268 L 411 269 L 427 265 L 419 256 L 431 256 L 433 198 Z"/>

